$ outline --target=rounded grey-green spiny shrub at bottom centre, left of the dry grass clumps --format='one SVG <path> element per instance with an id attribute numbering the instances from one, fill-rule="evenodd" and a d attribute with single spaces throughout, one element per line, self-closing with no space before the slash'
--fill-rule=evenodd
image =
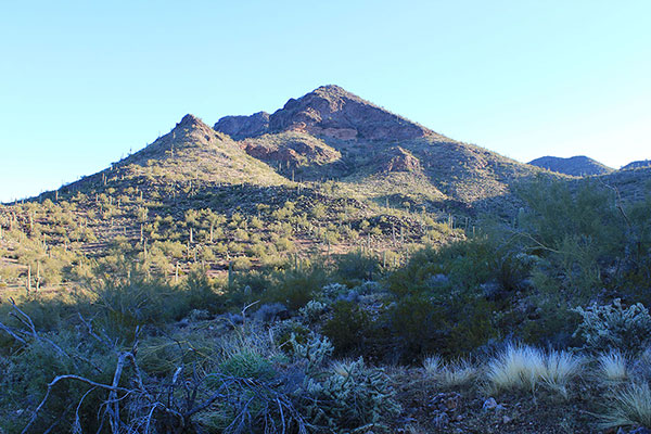
<path id="1" fill-rule="evenodd" d="M 323 372 L 323 380 L 310 379 L 309 395 L 317 397 L 307 408 L 309 419 L 333 432 L 367 426 L 388 432 L 383 422 L 396 417 L 400 406 L 391 379 L 382 369 L 368 368 L 363 359 L 341 361 Z"/>

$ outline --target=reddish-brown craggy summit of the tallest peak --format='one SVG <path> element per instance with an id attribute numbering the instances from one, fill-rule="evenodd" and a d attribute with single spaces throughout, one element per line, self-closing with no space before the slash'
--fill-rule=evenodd
<path id="1" fill-rule="evenodd" d="M 269 117 L 269 130 L 305 130 L 343 140 L 408 140 L 431 133 L 420 125 L 332 85 L 288 101 Z"/>

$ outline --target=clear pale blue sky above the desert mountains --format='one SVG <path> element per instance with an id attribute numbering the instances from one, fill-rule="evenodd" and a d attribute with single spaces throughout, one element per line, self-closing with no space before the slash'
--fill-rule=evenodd
<path id="1" fill-rule="evenodd" d="M 526 162 L 651 158 L 651 1 L 14 1 L 0 201 L 336 84 Z"/>

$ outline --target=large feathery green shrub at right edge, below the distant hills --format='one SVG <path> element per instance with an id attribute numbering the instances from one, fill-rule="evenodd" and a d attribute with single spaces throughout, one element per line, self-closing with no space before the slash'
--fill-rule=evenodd
<path id="1" fill-rule="evenodd" d="M 651 202 L 622 203 L 615 189 L 590 180 L 538 180 L 518 193 L 527 206 L 512 232 L 547 260 L 548 278 L 569 302 L 585 304 L 604 286 L 648 299 Z"/>

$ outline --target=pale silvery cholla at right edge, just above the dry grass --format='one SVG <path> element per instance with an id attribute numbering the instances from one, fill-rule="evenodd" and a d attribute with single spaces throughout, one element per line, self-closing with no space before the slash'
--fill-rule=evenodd
<path id="1" fill-rule="evenodd" d="M 574 335 L 585 340 L 586 349 L 637 353 L 649 344 L 651 316 L 640 303 L 624 308 L 616 298 L 612 305 L 592 304 L 585 309 L 577 307 L 574 311 L 583 317 Z"/>

